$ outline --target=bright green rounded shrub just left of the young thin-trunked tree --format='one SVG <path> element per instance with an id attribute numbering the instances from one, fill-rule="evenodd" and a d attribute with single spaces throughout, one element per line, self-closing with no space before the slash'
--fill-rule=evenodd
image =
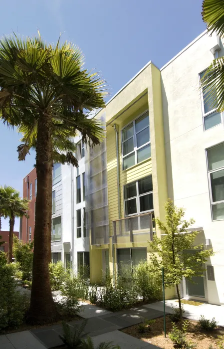
<path id="1" fill-rule="evenodd" d="M 161 298 L 161 272 L 152 263 L 140 261 L 133 268 L 133 276 L 137 292 L 144 302 Z"/>

